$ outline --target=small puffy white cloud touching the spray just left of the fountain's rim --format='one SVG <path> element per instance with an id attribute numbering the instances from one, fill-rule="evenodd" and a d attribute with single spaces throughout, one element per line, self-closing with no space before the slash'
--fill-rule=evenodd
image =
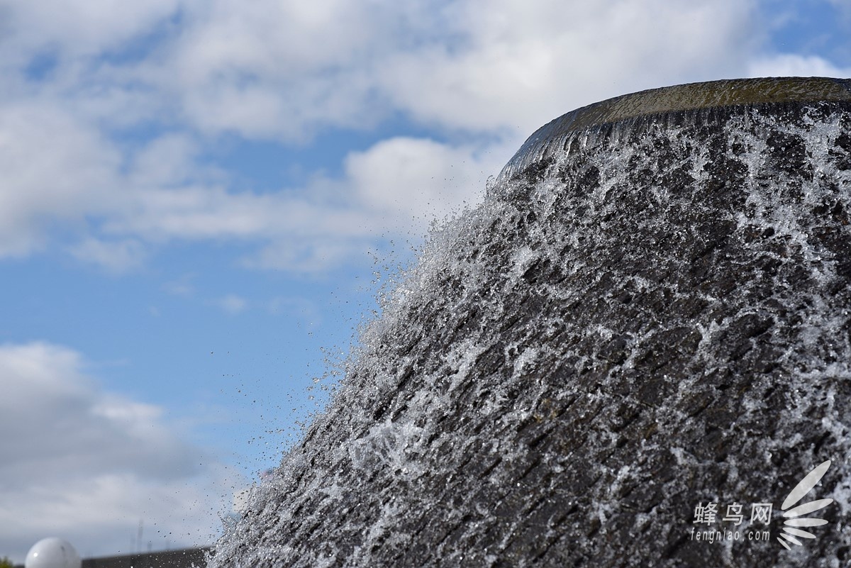
<path id="1" fill-rule="evenodd" d="M 511 144 L 513 147 L 514 144 Z M 386 139 L 346 157 L 340 179 L 317 179 L 299 192 L 316 201 L 258 202 L 270 243 L 246 259 L 255 268 L 326 272 L 367 258 L 376 238 L 420 238 L 431 219 L 478 202 L 489 175 L 511 156 L 508 145 L 483 149 L 431 139 Z M 344 202 L 323 199 L 328 193 Z M 281 219 L 291 219 L 281 224 Z M 281 227 L 286 232 L 281 232 Z"/>

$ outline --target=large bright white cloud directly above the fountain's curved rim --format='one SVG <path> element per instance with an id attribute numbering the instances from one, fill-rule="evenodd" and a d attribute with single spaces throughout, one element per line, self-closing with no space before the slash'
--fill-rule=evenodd
<path id="1" fill-rule="evenodd" d="M 530 132 L 582 105 L 642 88 L 736 74 L 753 3 L 453 3 L 442 41 L 391 54 L 394 102 L 448 128 Z"/>

